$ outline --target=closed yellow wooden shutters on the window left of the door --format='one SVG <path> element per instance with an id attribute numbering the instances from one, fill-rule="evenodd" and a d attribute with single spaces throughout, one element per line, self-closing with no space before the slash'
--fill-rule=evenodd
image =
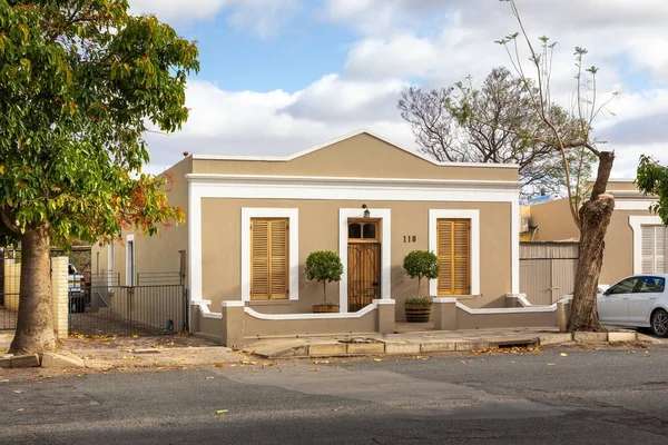
<path id="1" fill-rule="evenodd" d="M 250 218 L 250 299 L 288 297 L 288 219 Z"/>

